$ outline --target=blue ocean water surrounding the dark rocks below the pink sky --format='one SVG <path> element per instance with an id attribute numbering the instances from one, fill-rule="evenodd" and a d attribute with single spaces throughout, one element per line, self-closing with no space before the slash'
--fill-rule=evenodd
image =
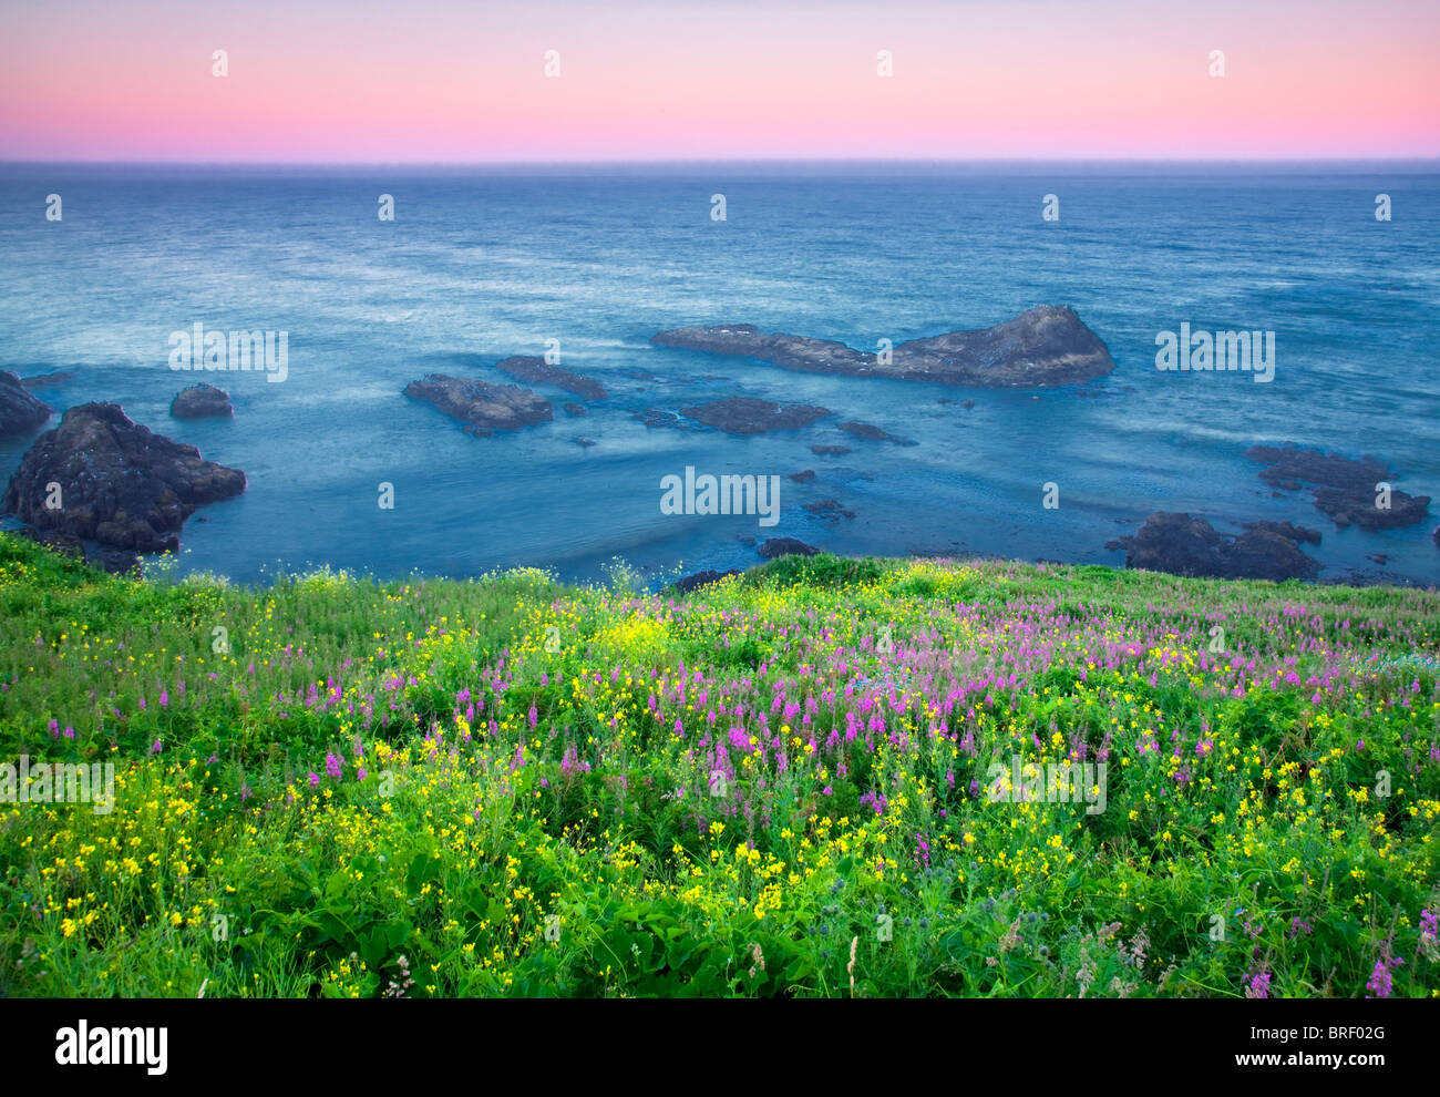
<path id="1" fill-rule="evenodd" d="M 1381 193 L 1392 220 L 1375 217 Z M 1047 194 L 1058 220 L 1043 219 Z M 1372 453 L 1397 488 L 1440 497 L 1433 164 L 0 164 L 0 369 L 71 373 L 37 392 L 56 413 L 118 402 L 245 471 L 242 497 L 186 524 L 186 572 L 539 566 L 586 580 L 621 559 L 658 582 L 757 563 L 747 537 L 1123 566 L 1104 543 L 1164 510 L 1231 533 L 1261 518 L 1318 528 L 1306 551 L 1322 579 L 1440 579 L 1440 518 L 1336 531 L 1308 491 L 1276 498 L 1244 456 L 1286 441 Z M 953 389 L 649 344 L 749 322 L 876 350 L 1037 304 L 1071 305 L 1116 370 L 1083 390 Z M 194 322 L 288 333 L 285 380 L 171 370 L 170 334 Z M 1274 331 L 1273 382 L 1156 370 L 1156 335 L 1182 322 Z M 474 438 L 402 394 L 431 371 L 514 383 L 494 364 L 549 340 L 609 399 L 527 386 L 554 422 Z M 230 394 L 233 420 L 170 417 L 200 380 Z M 835 415 L 744 438 L 631 417 L 737 394 Z M 917 445 L 855 439 L 835 429 L 845 419 Z M 0 478 L 32 442 L 0 441 Z M 778 524 L 662 514 L 662 478 L 687 466 L 780 477 Z M 788 478 L 804 469 L 814 481 Z M 805 510 L 827 498 L 855 517 Z"/>

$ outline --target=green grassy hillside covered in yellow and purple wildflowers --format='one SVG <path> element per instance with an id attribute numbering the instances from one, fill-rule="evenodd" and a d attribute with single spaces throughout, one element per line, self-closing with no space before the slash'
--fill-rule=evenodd
<path id="1" fill-rule="evenodd" d="M 1434 590 L 253 590 L 0 536 L 0 762 L 117 766 L 0 803 L 0 993 L 1436 996 L 1437 652 Z"/>

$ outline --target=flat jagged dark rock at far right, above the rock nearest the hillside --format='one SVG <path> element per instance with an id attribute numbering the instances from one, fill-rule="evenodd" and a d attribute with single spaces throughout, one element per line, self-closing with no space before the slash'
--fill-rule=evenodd
<path id="1" fill-rule="evenodd" d="M 1293 442 L 1284 446 L 1250 446 L 1246 456 L 1266 468 L 1260 479 L 1283 491 L 1315 485 L 1315 508 L 1328 514 L 1339 528 L 1391 530 L 1424 521 L 1430 513 L 1428 495 L 1410 495 L 1391 487 L 1395 472 L 1372 456 L 1359 459 L 1319 449 L 1303 449 Z"/>

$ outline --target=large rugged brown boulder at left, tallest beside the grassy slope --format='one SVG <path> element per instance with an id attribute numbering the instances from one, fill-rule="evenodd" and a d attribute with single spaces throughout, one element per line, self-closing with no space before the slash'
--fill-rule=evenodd
<path id="1" fill-rule="evenodd" d="M 46 507 L 50 484 L 59 485 L 56 510 Z M 86 403 L 30 446 L 0 511 L 39 531 L 158 553 L 179 547 L 176 534 L 197 507 L 242 491 L 239 469 L 132 423 L 120 405 Z"/>

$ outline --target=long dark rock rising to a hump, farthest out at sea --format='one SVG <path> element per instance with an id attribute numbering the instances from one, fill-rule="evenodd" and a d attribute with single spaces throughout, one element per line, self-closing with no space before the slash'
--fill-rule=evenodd
<path id="1" fill-rule="evenodd" d="M 950 331 L 897 344 L 890 364 L 844 343 L 760 333 L 753 324 L 661 331 L 661 347 L 706 350 L 770 361 L 788 370 L 891 377 L 971 387 L 1030 389 L 1080 384 L 1115 369 L 1110 351 L 1074 310 L 1038 305 L 979 331 Z"/>

